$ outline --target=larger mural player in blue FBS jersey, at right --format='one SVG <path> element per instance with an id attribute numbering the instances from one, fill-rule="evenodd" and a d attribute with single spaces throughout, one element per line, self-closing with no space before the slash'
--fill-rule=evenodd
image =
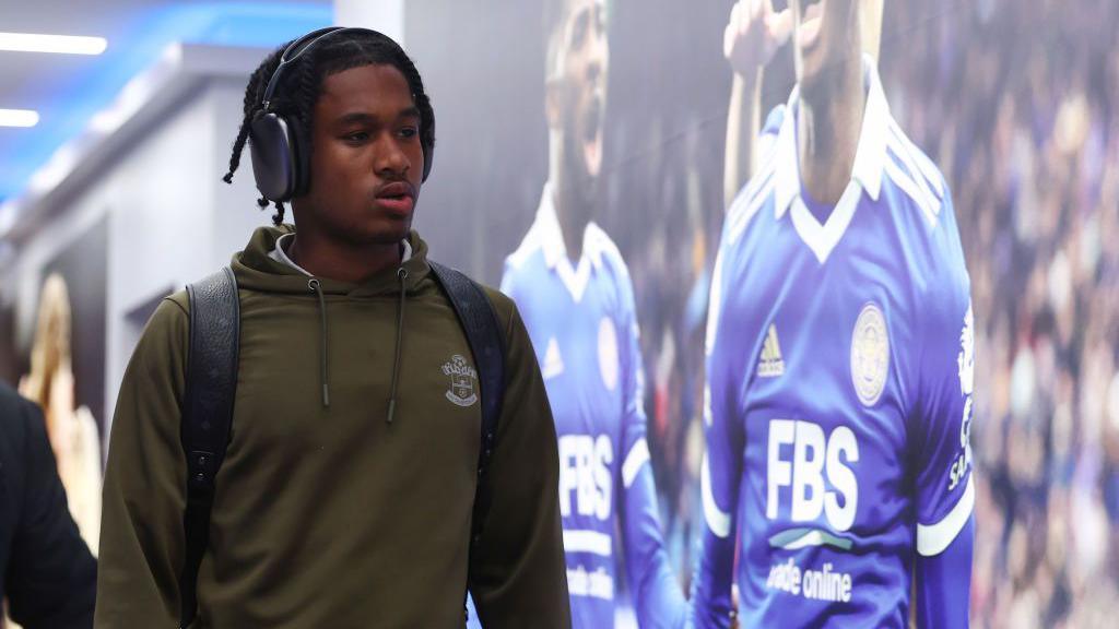
<path id="1" fill-rule="evenodd" d="M 768 4 L 740 4 L 740 32 L 772 35 Z M 881 4 L 791 4 L 798 85 L 712 288 L 696 623 L 728 625 L 736 565 L 746 627 L 904 627 L 911 609 L 966 627 L 974 319 L 951 197 L 861 55 Z"/>

